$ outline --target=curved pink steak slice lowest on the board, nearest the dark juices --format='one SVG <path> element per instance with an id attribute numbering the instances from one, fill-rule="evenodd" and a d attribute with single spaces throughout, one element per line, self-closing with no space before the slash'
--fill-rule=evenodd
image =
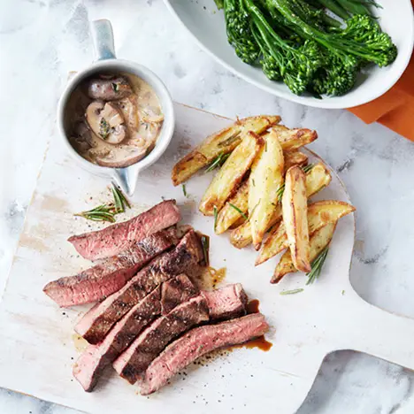
<path id="1" fill-rule="evenodd" d="M 196 358 L 214 349 L 250 341 L 265 334 L 268 329 L 265 317 L 260 313 L 192 329 L 171 343 L 149 365 L 141 383 L 141 394 L 156 392 Z"/>

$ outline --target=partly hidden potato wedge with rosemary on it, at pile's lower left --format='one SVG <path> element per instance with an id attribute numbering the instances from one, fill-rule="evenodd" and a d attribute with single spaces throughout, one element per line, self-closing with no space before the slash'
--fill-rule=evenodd
<path id="1" fill-rule="evenodd" d="M 243 214 L 248 215 L 248 200 L 249 200 L 249 180 L 242 182 L 242 185 L 237 189 L 236 194 L 230 197 L 224 207 L 220 210 L 216 221 L 216 234 L 226 232 L 228 228 L 233 226 L 239 219 L 243 223 L 245 219 Z M 240 212 L 242 211 L 242 213 Z"/>

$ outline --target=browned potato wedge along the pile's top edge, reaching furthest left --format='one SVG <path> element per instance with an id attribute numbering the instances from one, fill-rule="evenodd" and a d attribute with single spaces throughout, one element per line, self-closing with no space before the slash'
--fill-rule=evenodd
<path id="1" fill-rule="evenodd" d="M 210 165 L 220 154 L 232 152 L 242 142 L 242 133 L 253 131 L 256 134 L 263 134 L 269 127 L 279 122 L 280 117 L 272 115 L 237 119 L 233 125 L 211 134 L 173 166 L 171 177 L 174 186 L 187 181 L 198 170 Z"/>

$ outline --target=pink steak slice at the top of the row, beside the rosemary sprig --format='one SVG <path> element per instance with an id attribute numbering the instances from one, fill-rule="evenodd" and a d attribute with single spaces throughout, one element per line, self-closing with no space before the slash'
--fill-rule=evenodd
<path id="1" fill-rule="evenodd" d="M 166 200 L 134 219 L 96 232 L 74 235 L 69 237 L 68 242 L 73 244 L 80 256 L 89 260 L 111 257 L 128 249 L 134 242 L 175 225 L 180 219 L 180 211 L 175 200 Z"/>

